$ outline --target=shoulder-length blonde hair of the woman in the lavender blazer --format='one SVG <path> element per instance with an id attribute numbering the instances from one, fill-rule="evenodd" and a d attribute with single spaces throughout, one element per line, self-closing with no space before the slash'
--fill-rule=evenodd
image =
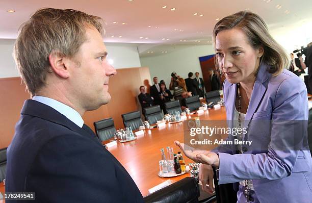
<path id="1" fill-rule="evenodd" d="M 252 12 L 241 11 L 222 18 L 217 22 L 213 31 L 214 44 L 216 44 L 216 37 L 219 32 L 232 28 L 241 29 L 253 48 L 264 48 L 264 55 L 261 60 L 270 65 L 268 71 L 273 75 L 278 75 L 283 68 L 288 67 L 288 55 L 270 35 L 265 21 L 260 16 Z M 217 57 L 215 57 L 215 64 L 216 67 L 219 67 Z M 220 72 L 222 71 L 220 70 Z"/>

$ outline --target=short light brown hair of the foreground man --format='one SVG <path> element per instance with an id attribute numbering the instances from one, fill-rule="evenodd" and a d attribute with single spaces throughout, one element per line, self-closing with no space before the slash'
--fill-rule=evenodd
<path id="1" fill-rule="evenodd" d="M 102 34 L 102 19 L 72 9 L 44 8 L 24 22 L 14 45 L 14 59 L 31 95 L 45 85 L 48 56 L 74 57 L 87 40 L 86 27 Z"/>

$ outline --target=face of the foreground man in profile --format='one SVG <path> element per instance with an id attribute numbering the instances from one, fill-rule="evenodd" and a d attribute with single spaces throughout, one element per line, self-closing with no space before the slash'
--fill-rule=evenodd
<path id="1" fill-rule="evenodd" d="M 100 33 L 94 27 L 86 28 L 86 38 L 73 57 L 77 63 L 70 69 L 71 87 L 68 88 L 75 94 L 76 103 L 90 111 L 110 102 L 109 78 L 116 70 L 107 61 L 107 50 Z"/>

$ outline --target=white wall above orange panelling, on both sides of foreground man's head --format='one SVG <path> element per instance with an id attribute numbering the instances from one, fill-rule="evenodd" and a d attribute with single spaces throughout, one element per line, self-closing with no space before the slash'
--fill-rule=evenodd
<path id="1" fill-rule="evenodd" d="M 0 78 L 19 77 L 13 59 L 15 39 L 0 39 Z M 141 67 L 137 45 L 106 43 L 108 59 L 113 60 L 115 68 Z"/>

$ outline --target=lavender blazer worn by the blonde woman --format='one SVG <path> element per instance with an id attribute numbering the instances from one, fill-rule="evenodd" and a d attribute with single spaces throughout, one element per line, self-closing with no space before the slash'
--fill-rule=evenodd
<path id="1" fill-rule="evenodd" d="M 243 139 L 252 140 L 253 147 L 244 154 L 236 154 L 233 148 L 219 152 L 219 184 L 249 179 L 260 202 L 312 202 L 312 158 L 302 124 L 308 119 L 306 87 L 294 73 L 284 69 L 273 77 L 268 68 L 259 67 L 244 122 Z M 236 92 L 237 85 L 225 80 L 227 120 L 233 119 Z M 291 124 L 292 120 L 299 125 Z M 271 125 L 259 126 L 262 121 Z M 295 142 L 294 136 L 301 139 Z"/>

